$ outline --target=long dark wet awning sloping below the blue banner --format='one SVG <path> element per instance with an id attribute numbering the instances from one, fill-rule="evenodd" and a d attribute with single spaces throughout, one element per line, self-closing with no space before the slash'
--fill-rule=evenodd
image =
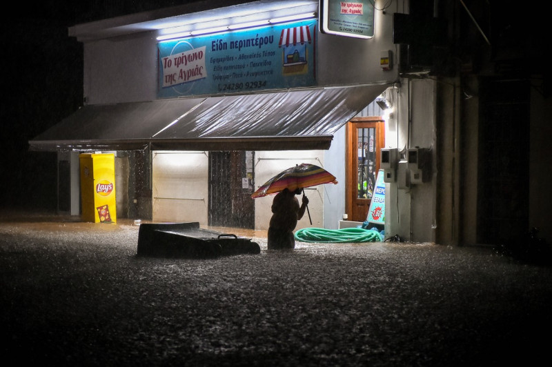
<path id="1" fill-rule="evenodd" d="M 83 106 L 30 150 L 310 150 L 386 85 L 312 88 Z"/>

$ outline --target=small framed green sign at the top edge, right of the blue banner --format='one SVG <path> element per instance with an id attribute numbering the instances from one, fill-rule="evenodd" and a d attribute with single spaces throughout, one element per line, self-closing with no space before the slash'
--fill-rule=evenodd
<path id="1" fill-rule="evenodd" d="M 346 37 L 374 37 L 374 0 L 322 0 L 320 31 Z"/>

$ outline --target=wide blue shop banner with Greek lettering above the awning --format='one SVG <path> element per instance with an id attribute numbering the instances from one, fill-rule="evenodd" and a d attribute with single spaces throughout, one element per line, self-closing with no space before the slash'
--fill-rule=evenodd
<path id="1" fill-rule="evenodd" d="M 315 86 L 317 21 L 157 43 L 159 98 Z"/>

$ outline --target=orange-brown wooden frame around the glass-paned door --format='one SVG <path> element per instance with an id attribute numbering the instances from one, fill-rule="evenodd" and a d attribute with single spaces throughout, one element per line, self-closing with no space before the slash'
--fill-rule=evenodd
<path id="1" fill-rule="evenodd" d="M 357 128 L 371 128 L 374 127 L 376 130 L 376 141 L 375 141 L 375 172 L 380 170 L 380 149 L 384 148 L 385 144 L 385 126 L 384 126 L 383 117 L 354 117 L 349 120 L 346 124 L 346 164 L 345 164 L 345 212 L 348 216 L 348 220 L 353 219 L 353 188 L 358 186 L 357 178 L 357 150 L 356 150 L 356 140 L 357 140 Z M 361 124 L 369 123 L 368 126 L 361 126 Z M 380 124 L 381 123 L 381 124 Z M 383 130 L 382 130 L 383 129 Z M 355 148 L 353 148 L 353 142 Z M 354 174 L 353 174 L 354 171 Z M 377 177 L 376 177 L 377 178 Z"/>

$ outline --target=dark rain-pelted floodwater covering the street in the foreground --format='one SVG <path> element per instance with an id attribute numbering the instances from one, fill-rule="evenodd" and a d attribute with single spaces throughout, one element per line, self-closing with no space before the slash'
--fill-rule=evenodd
<path id="1" fill-rule="evenodd" d="M 215 228 L 210 228 L 215 229 Z M 218 228 L 226 232 L 226 228 Z M 139 226 L 0 213 L 12 365 L 546 363 L 552 268 L 489 246 L 373 242 L 137 257 Z"/>

